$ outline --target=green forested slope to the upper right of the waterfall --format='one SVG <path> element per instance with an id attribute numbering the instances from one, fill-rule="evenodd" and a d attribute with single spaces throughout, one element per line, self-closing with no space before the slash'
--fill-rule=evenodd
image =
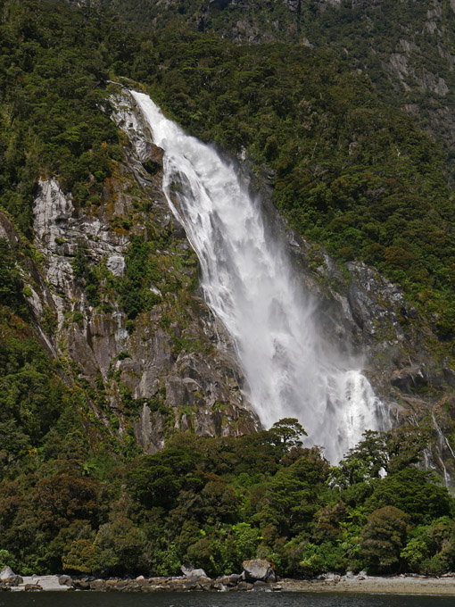
<path id="1" fill-rule="evenodd" d="M 132 74 L 173 117 L 231 153 L 245 148 L 258 173 L 271 168 L 291 227 L 342 262 L 376 266 L 451 340 L 454 207 L 440 146 L 327 51 L 181 28 L 153 53 Z"/>

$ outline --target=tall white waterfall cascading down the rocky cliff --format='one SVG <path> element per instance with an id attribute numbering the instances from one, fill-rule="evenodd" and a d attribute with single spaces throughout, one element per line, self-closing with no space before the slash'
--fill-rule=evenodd
<path id="1" fill-rule="evenodd" d="M 235 340 L 254 410 L 266 427 L 297 418 L 310 442 L 339 461 L 365 429 L 378 429 L 382 405 L 368 380 L 322 344 L 314 304 L 234 167 L 150 97 L 132 95 L 164 150 L 164 191 L 199 257 L 205 301 Z"/>

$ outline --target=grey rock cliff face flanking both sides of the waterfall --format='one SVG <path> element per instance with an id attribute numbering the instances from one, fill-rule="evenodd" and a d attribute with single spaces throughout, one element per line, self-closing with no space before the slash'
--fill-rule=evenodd
<path id="1" fill-rule="evenodd" d="M 125 134 L 124 158 L 102 195 L 80 207 L 57 178 L 38 184 L 37 255 L 22 275 L 37 336 L 66 383 L 86 395 L 89 423 L 114 439 L 153 453 L 173 429 L 252 432 L 260 422 L 242 391 L 234 346 L 197 295 L 197 260 L 161 189 L 161 150 L 128 91 L 111 87 L 105 111 Z M 260 189 L 267 201 L 264 182 Z M 264 211 L 276 216 L 270 203 Z M 17 244 L 1 220 L 1 236 Z M 431 319 L 376 270 L 337 264 L 276 221 L 318 301 L 327 343 L 362 358 L 392 424 L 432 426 L 439 449 L 429 456 L 436 465 L 450 460 L 455 372 Z"/>

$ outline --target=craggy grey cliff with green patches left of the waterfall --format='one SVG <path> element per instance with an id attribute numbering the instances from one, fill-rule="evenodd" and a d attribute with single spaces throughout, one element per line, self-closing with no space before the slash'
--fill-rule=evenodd
<path id="1" fill-rule="evenodd" d="M 161 191 L 161 151 L 132 99 L 113 101 L 131 137 L 96 204 L 77 208 L 55 177 L 38 184 L 41 260 L 23 276 L 37 334 L 95 424 L 123 440 L 134 432 L 145 452 L 172 429 L 252 432 L 233 345 L 196 294 L 195 255 Z M 18 239 L 4 215 L 2 236 Z"/>

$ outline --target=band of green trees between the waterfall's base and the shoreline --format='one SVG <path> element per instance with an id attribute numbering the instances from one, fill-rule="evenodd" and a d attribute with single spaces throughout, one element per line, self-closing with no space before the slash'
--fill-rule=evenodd
<path id="1" fill-rule="evenodd" d="M 130 462 L 88 457 L 70 437 L 65 451 L 51 431 L 45 468 L 0 486 L 4 556 L 22 572 L 106 576 L 169 575 L 183 562 L 219 575 L 255 557 L 294 576 L 453 567 L 453 500 L 430 474 L 405 466 L 334 485 L 336 469 L 318 448 L 294 445 L 290 428 L 294 420 L 251 437 L 175 435 Z M 385 444 L 400 436 L 388 432 Z"/>

